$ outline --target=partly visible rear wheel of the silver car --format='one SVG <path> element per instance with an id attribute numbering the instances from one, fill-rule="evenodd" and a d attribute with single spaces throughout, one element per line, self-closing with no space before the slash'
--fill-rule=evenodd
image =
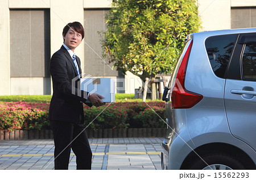
<path id="1" fill-rule="evenodd" d="M 202 160 L 202 159 L 204 160 Z M 230 170 L 245 169 L 245 167 L 236 160 L 236 158 L 228 154 L 207 154 L 201 158 L 191 162 L 188 169 L 204 169 L 204 170 Z"/>

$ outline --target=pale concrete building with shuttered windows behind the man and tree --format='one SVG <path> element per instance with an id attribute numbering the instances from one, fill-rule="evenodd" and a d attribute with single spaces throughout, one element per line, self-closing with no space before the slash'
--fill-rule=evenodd
<path id="1" fill-rule="evenodd" d="M 256 27 L 255 0 L 199 0 L 202 31 Z M 1 0 L 0 95 L 51 94 L 49 60 L 63 43 L 65 24 L 84 23 L 84 43 L 76 49 L 82 71 L 120 78 L 119 93 L 134 93 L 138 77 L 119 74 L 102 58 L 100 35 L 111 0 Z M 125 79 L 125 80 L 123 80 Z"/>

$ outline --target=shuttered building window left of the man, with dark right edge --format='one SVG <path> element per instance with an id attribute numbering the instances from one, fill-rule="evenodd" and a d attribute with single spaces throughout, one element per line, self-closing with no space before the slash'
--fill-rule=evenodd
<path id="1" fill-rule="evenodd" d="M 49 9 L 10 10 L 11 77 L 49 77 Z"/>

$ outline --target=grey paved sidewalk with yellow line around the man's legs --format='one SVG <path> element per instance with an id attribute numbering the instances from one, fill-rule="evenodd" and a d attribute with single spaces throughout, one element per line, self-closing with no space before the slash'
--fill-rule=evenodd
<path id="1" fill-rule="evenodd" d="M 161 169 L 162 138 L 89 139 L 89 143 L 93 152 L 92 169 Z M 53 169 L 53 152 L 52 139 L 0 141 L 0 170 Z M 69 169 L 76 169 L 73 152 Z"/>

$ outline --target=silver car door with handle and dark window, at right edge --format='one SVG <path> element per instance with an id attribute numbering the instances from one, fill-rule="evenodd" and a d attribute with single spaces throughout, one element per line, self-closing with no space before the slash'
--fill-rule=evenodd
<path id="1" fill-rule="evenodd" d="M 256 34 L 241 34 L 226 74 L 224 102 L 230 131 L 256 150 Z"/>

